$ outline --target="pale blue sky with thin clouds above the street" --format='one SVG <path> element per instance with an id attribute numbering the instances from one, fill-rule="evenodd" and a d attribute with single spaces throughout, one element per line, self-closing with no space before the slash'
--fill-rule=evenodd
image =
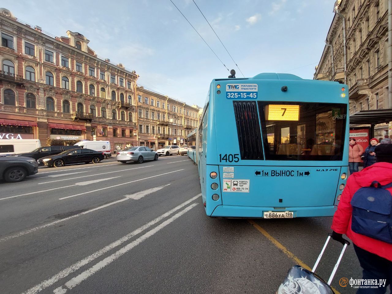
<path id="1" fill-rule="evenodd" d="M 242 77 L 192 0 L 172 0 L 216 55 Z M 313 78 L 334 0 L 195 0 L 245 77 Z M 83 34 L 96 54 L 134 69 L 139 85 L 203 106 L 213 78 L 229 72 L 170 0 L 9 1 L 15 17 L 56 36 Z M 300 68 L 299 68 L 300 67 Z"/>

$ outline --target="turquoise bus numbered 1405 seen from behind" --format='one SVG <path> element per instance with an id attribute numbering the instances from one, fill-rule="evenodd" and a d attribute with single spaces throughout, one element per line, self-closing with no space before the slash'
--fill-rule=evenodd
<path id="1" fill-rule="evenodd" d="M 347 85 L 278 73 L 215 79 L 197 131 L 208 216 L 334 214 L 348 176 Z"/>

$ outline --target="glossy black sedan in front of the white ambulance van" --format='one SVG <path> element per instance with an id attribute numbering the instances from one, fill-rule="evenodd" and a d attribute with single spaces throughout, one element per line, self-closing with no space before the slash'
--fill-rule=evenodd
<path id="1" fill-rule="evenodd" d="M 62 167 L 66 164 L 73 163 L 99 163 L 105 156 L 103 152 L 98 152 L 91 149 L 70 149 L 63 151 L 57 155 L 46 156 L 38 160 L 48 167 Z"/>

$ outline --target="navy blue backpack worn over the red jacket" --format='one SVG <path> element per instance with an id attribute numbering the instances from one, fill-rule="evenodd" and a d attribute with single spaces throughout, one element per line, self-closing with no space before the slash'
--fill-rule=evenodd
<path id="1" fill-rule="evenodd" d="M 392 195 L 385 190 L 390 187 L 392 183 L 381 186 L 373 181 L 354 193 L 350 202 L 353 232 L 392 243 Z"/>

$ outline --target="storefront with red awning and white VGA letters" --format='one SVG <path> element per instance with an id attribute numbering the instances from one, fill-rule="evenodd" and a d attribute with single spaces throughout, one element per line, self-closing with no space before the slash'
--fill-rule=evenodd
<path id="1" fill-rule="evenodd" d="M 36 139 L 37 123 L 0 119 L 0 139 Z"/>

